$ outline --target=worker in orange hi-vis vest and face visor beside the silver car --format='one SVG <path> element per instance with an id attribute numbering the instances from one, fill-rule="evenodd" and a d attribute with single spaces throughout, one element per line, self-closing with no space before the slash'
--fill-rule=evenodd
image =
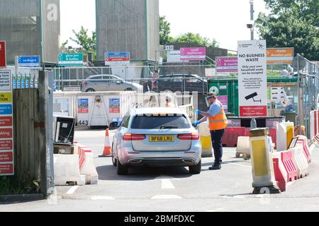
<path id="1" fill-rule="evenodd" d="M 208 93 L 206 95 L 206 103 L 209 107 L 208 112 L 202 112 L 196 110 L 196 114 L 201 114 L 203 119 L 195 122 L 195 126 L 198 126 L 203 121 L 209 120 L 209 129 L 211 130 L 211 140 L 213 142 L 213 149 L 215 155 L 215 162 L 210 170 L 221 169 L 222 157 L 223 157 L 223 135 L 227 127 L 228 121 L 223 108 L 223 104 L 217 99 L 215 93 Z"/>

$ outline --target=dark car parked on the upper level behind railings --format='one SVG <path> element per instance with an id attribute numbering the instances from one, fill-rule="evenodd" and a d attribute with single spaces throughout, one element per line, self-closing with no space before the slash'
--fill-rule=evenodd
<path id="1" fill-rule="evenodd" d="M 208 92 L 207 80 L 194 74 L 172 73 L 166 76 L 159 76 L 157 86 L 157 92 Z"/>

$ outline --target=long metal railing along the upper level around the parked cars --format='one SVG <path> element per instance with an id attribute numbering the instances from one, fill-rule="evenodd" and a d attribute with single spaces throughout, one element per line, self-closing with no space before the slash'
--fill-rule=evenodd
<path id="1" fill-rule="evenodd" d="M 118 76 L 125 81 L 125 83 L 136 83 L 144 86 L 144 92 L 149 91 L 151 88 L 152 75 L 157 69 L 159 75 L 186 75 L 192 74 L 196 75 L 202 79 L 213 78 L 216 76 L 214 73 L 213 65 L 196 65 L 196 64 L 187 64 L 187 65 L 175 65 L 175 66 L 112 66 L 112 67 L 80 67 L 80 68 L 56 68 L 54 71 L 55 85 L 57 90 L 62 91 L 81 91 L 82 83 L 89 78 L 89 76 L 99 76 L 99 75 L 113 75 Z M 112 79 L 102 79 L 101 82 L 114 82 Z M 167 82 L 166 78 L 157 79 L 157 83 Z M 195 79 L 184 78 L 184 76 L 177 76 L 172 80 L 175 86 L 179 88 L 177 90 L 184 92 L 189 90 L 186 88 L 187 82 L 197 83 Z M 148 83 L 148 85 L 147 85 Z M 171 83 L 171 84 L 173 84 Z M 159 85 L 159 84 L 158 84 Z M 194 86 L 194 84 L 189 84 Z M 163 90 L 155 90 L 156 92 L 167 90 L 173 90 L 172 85 L 166 85 L 167 87 L 162 88 Z M 174 88 L 174 91 L 177 91 Z M 85 90 L 84 90 L 85 91 Z M 113 91 L 113 90 L 112 90 Z M 120 90 L 118 90 L 120 91 Z M 199 93 L 207 92 L 206 84 L 203 83 L 202 87 L 197 88 Z"/>

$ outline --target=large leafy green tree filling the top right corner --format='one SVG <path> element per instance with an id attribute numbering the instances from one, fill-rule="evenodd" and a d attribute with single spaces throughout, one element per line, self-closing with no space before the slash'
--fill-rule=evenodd
<path id="1" fill-rule="evenodd" d="M 259 14 L 259 35 L 267 47 L 294 47 L 309 60 L 319 59 L 318 0 L 265 0 L 271 13 Z"/>

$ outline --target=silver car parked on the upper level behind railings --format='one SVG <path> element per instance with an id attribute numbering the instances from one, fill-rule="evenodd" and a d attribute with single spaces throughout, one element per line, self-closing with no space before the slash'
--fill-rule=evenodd
<path id="1" fill-rule="evenodd" d="M 143 91 L 142 85 L 125 81 L 123 78 L 113 75 L 89 76 L 82 83 L 82 92 L 103 91 Z"/>

